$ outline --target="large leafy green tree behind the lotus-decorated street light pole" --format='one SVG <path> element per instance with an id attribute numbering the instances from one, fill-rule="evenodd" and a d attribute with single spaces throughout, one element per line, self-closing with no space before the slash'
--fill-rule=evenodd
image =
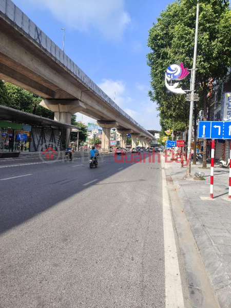
<path id="1" fill-rule="evenodd" d="M 192 67 L 197 0 L 178 0 L 167 6 L 160 14 L 156 24 L 149 30 L 148 65 L 151 69 L 151 88 L 149 96 L 156 101 L 160 118 L 182 122 L 188 127 L 189 105 L 184 95 L 168 93 L 164 74 L 171 63 L 181 63 Z M 229 1 L 201 0 L 198 29 L 198 52 L 196 72 L 196 92 L 200 101 L 198 110 L 203 110 L 207 119 L 209 106 L 209 81 L 218 81 L 227 74 L 231 65 L 231 13 Z M 182 87 L 189 88 L 189 77 L 182 81 Z M 206 141 L 205 141 L 206 145 Z M 206 146 L 204 146 L 206 150 Z M 203 166 L 206 166 L 204 154 Z"/>

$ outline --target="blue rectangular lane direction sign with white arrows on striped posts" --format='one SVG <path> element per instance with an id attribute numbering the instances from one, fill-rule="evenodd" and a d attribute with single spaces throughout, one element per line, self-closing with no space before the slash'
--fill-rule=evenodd
<path id="1" fill-rule="evenodd" d="M 231 139 L 231 121 L 199 121 L 198 138 Z"/>

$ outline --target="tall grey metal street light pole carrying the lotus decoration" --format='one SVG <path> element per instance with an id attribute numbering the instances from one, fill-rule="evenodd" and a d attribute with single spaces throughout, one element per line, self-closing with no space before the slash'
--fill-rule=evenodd
<path id="1" fill-rule="evenodd" d="M 194 44 L 194 63 L 192 65 L 192 78 L 191 78 L 191 101 L 190 101 L 190 113 L 189 113 L 189 127 L 188 127 L 188 155 L 191 153 L 191 133 L 192 133 L 192 115 L 194 113 L 194 90 L 196 79 L 196 61 L 197 61 L 197 40 L 198 40 L 198 21 L 199 21 L 199 0 L 197 0 L 197 18 L 196 18 L 196 30 L 195 30 L 195 44 Z M 186 176 L 190 176 L 191 172 L 191 159 L 187 165 Z"/>

